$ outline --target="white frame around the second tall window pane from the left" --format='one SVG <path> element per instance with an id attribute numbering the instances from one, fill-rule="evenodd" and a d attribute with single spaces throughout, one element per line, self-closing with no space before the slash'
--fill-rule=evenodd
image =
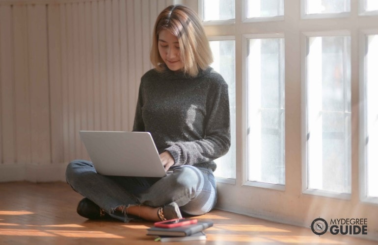
<path id="1" fill-rule="evenodd" d="M 243 74 L 243 108 L 248 108 L 247 104 L 247 41 L 248 39 L 260 38 L 285 38 L 284 33 L 266 33 L 266 34 L 244 34 L 242 35 L 242 74 Z M 285 42 L 285 41 L 284 41 Z M 284 82 L 285 83 L 285 82 Z M 248 147 L 247 147 L 247 127 L 248 111 L 244 112 L 243 117 L 243 186 L 267 188 L 277 191 L 285 191 L 285 185 L 271 184 L 258 181 L 248 180 Z M 285 170 L 286 176 L 286 170 Z"/>

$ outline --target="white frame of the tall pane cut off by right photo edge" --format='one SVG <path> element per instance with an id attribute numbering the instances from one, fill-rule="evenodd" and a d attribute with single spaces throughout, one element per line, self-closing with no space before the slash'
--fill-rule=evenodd
<path id="1" fill-rule="evenodd" d="M 372 203 L 378 205 L 378 197 L 367 196 L 367 155 L 366 155 L 366 38 L 368 35 L 378 35 L 378 29 L 365 29 L 359 33 L 359 186 L 360 186 L 360 200 L 365 203 Z"/>

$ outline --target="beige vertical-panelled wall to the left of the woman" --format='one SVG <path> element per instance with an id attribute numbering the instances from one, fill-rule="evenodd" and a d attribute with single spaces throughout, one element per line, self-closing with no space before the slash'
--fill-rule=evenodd
<path id="1" fill-rule="evenodd" d="M 0 1 L 0 182 L 64 180 L 79 130 L 132 129 L 173 0 Z"/>

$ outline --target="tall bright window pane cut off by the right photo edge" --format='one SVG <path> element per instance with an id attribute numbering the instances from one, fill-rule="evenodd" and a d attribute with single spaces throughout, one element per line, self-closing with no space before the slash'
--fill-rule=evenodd
<path id="1" fill-rule="evenodd" d="M 378 35 L 368 36 L 366 55 L 367 196 L 378 197 Z"/>

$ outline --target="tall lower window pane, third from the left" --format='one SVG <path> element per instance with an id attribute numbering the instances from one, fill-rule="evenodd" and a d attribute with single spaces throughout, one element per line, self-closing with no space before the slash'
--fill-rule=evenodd
<path id="1" fill-rule="evenodd" d="M 307 39 L 309 189 L 351 193 L 351 39 Z"/>

